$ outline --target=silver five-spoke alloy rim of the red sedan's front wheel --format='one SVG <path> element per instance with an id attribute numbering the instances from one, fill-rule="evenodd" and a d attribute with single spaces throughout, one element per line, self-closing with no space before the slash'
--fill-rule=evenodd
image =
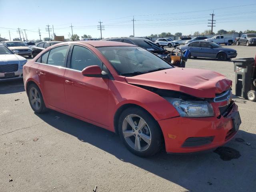
<path id="1" fill-rule="evenodd" d="M 124 139 L 136 151 L 145 151 L 151 144 L 151 132 L 146 121 L 135 114 L 124 118 L 122 124 Z"/>

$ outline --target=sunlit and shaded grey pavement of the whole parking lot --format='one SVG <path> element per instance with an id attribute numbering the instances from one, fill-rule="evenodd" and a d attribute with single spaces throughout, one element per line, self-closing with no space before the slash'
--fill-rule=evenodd
<path id="1" fill-rule="evenodd" d="M 228 48 L 237 58 L 256 54 L 255 46 Z M 214 70 L 234 82 L 230 60 L 190 59 L 186 67 Z M 53 110 L 35 114 L 22 80 L 0 82 L 0 191 L 253 192 L 256 102 L 234 100 L 242 124 L 226 148 L 140 158 L 103 128 Z"/>

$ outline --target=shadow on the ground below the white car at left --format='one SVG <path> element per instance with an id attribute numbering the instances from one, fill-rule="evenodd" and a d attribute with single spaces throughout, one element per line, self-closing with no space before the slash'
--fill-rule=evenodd
<path id="1" fill-rule="evenodd" d="M 23 79 L 0 82 L 0 94 L 10 94 L 25 91 Z"/>

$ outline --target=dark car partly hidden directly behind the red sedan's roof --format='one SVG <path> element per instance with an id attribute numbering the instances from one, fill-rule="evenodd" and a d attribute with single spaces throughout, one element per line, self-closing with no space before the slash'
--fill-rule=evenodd
<path id="1" fill-rule="evenodd" d="M 105 41 L 117 41 L 117 42 L 124 42 L 124 43 L 129 43 L 132 45 L 137 45 L 140 46 L 154 54 L 157 54 L 158 56 L 160 56 L 161 58 L 165 58 L 165 60 L 167 60 L 168 62 L 170 62 L 170 56 L 168 56 L 168 58 L 166 58 L 166 56 L 168 54 L 170 54 L 169 51 L 167 51 L 166 49 L 158 46 L 157 44 L 155 44 L 154 42 L 152 42 L 149 39 L 146 38 L 138 38 L 138 37 L 118 37 L 118 38 L 106 38 L 103 39 Z"/>

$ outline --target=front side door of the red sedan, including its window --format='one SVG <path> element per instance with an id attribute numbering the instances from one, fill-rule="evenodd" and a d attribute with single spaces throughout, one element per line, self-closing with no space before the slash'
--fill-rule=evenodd
<path id="1" fill-rule="evenodd" d="M 74 45 L 72 49 L 70 69 L 64 75 L 68 112 L 107 126 L 108 79 L 85 77 L 81 73 L 88 66 L 102 67 L 102 62 L 84 46 Z"/>

